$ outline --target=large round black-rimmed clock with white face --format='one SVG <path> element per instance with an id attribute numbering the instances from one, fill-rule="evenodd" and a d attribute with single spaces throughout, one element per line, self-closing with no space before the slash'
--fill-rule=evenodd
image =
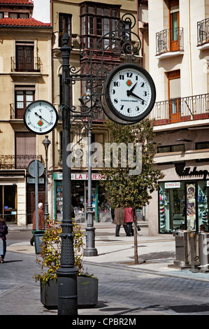
<path id="1" fill-rule="evenodd" d="M 136 123 L 152 110 L 156 92 L 145 69 L 136 64 L 122 64 L 108 76 L 104 97 L 103 109 L 110 119 Z"/>

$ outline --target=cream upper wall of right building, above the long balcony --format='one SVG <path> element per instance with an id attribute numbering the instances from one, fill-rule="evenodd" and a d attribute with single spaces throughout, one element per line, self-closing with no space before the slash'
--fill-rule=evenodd
<path id="1" fill-rule="evenodd" d="M 208 0 L 207 0 L 208 2 Z M 168 29 L 167 1 L 149 1 L 150 74 L 157 89 L 157 102 L 168 99 L 168 80 L 164 72 L 180 69 L 181 97 L 208 92 L 206 56 L 208 50 L 197 45 L 197 22 L 206 18 L 205 1 L 180 1 L 180 27 L 184 33 L 183 55 L 159 59 L 156 56 L 156 33 Z"/>

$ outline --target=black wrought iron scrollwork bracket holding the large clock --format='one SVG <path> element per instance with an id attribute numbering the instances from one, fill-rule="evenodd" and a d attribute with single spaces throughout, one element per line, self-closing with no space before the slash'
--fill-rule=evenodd
<path id="1" fill-rule="evenodd" d="M 69 66 L 68 82 L 75 85 L 77 81 L 83 81 L 87 92 L 80 97 L 79 106 L 68 106 L 71 116 L 71 130 L 75 134 L 87 135 L 92 127 L 92 120 L 103 112 L 101 95 L 106 77 L 115 65 L 108 62 L 106 53 L 114 57 L 116 65 L 123 62 L 136 62 L 141 42 L 139 36 L 134 33 L 136 18 L 131 13 L 122 16 L 115 31 L 110 31 L 101 36 L 93 48 L 86 46 L 80 48 L 80 68 Z M 133 41 L 134 36 L 134 41 Z M 96 54 L 96 58 L 95 58 Z"/>

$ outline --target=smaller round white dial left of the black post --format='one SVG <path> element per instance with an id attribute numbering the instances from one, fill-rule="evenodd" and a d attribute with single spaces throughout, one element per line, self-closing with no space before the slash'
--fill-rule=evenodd
<path id="1" fill-rule="evenodd" d="M 46 134 L 57 125 L 58 115 L 52 104 L 46 101 L 35 101 L 24 111 L 24 124 L 35 134 Z"/>

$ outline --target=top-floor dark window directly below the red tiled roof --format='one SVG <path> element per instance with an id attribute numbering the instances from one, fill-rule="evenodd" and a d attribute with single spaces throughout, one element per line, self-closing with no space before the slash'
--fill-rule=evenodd
<path id="1" fill-rule="evenodd" d="M 34 71 L 33 42 L 16 42 L 15 71 Z"/>

